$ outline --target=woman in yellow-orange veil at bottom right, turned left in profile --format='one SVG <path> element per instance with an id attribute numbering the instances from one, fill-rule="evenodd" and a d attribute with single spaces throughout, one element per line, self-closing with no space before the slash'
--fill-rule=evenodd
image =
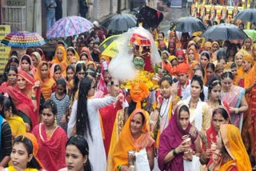
<path id="1" fill-rule="evenodd" d="M 206 170 L 251 170 L 250 160 L 243 145 L 239 129 L 234 125 L 220 126 L 213 163 Z"/>

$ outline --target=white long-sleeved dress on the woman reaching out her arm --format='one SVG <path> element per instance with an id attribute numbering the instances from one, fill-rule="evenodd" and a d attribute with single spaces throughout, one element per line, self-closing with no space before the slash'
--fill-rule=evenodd
<path id="1" fill-rule="evenodd" d="M 88 99 L 87 101 L 87 109 L 90 119 L 90 131 L 93 140 L 90 138 L 90 136 L 86 137 L 86 135 L 84 135 L 84 137 L 89 145 L 89 160 L 94 171 L 106 170 L 106 152 L 102 139 L 102 129 L 99 121 L 98 109 L 114 103 L 115 100 L 115 97 L 109 96 L 104 98 Z M 77 107 L 78 101 L 74 101 L 67 128 L 68 137 L 70 137 L 76 122 Z M 89 135 L 89 133 L 87 134 Z"/>

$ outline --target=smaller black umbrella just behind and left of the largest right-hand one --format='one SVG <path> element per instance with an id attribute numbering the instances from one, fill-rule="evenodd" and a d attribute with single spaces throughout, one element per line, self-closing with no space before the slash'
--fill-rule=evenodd
<path id="1" fill-rule="evenodd" d="M 176 31 L 194 33 L 206 30 L 206 26 L 198 18 L 186 17 L 177 21 Z"/>

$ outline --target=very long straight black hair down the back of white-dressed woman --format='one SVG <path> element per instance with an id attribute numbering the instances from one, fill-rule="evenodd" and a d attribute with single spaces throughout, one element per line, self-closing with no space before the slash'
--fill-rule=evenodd
<path id="1" fill-rule="evenodd" d="M 77 134 L 82 136 L 86 134 L 86 137 L 90 136 L 91 139 L 93 139 L 93 137 L 91 134 L 90 118 L 87 110 L 87 96 L 92 82 L 93 79 L 89 77 L 82 78 L 82 81 L 80 82 L 76 122 Z M 89 133 L 89 135 L 87 133 Z"/>

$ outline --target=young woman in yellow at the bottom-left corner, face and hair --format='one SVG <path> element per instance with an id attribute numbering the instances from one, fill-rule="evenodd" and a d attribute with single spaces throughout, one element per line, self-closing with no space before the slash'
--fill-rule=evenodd
<path id="1" fill-rule="evenodd" d="M 25 136 L 18 136 L 14 139 L 13 149 L 10 153 L 10 159 L 13 166 L 9 166 L 6 169 L 0 169 L 2 171 L 11 170 L 25 170 L 36 171 L 42 169 L 38 161 L 33 155 L 33 144 L 30 139 Z"/>

